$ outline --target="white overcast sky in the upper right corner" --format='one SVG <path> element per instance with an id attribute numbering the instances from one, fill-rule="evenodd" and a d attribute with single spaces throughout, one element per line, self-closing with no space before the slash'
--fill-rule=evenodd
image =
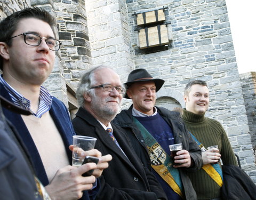
<path id="1" fill-rule="evenodd" d="M 238 73 L 256 71 L 255 0 L 226 0 Z"/>

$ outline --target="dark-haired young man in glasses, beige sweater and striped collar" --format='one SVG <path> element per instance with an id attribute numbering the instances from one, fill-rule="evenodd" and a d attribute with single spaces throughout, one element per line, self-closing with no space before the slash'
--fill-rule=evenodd
<path id="1" fill-rule="evenodd" d="M 89 199 L 95 177 L 99 177 L 111 156 L 101 157 L 93 149 L 85 154 L 101 157 L 101 163 L 81 167 L 70 166 L 74 130 L 65 105 L 43 86 L 50 75 L 55 51 L 60 44 L 55 39 L 55 20 L 38 8 L 15 12 L 0 22 L 0 94 L 15 105 L 33 112 L 25 116 L 3 109 L 24 143 L 38 179 L 46 186 L 52 199 Z M 82 177 L 90 169 L 94 174 Z M 91 190 L 91 195 L 95 195 Z M 7 197 L 6 197 L 7 199 Z"/>

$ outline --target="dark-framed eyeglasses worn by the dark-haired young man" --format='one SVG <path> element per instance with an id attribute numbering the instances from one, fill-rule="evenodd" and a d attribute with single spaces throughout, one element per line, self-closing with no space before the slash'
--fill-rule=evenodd
<path id="1" fill-rule="evenodd" d="M 24 36 L 24 42 L 28 45 L 39 46 L 39 44 L 41 44 L 42 40 L 44 39 L 50 50 L 58 51 L 60 49 L 61 42 L 58 41 L 57 39 L 53 39 L 53 38 L 48 38 L 47 39 L 46 37 L 41 37 L 41 36 L 39 36 L 37 34 L 34 34 L 34 33 L 22 33 L 20 35 Z M 20 35 L 13 36 L 9 39 L 12 39 L 14 37 L 18 37 Z"/>

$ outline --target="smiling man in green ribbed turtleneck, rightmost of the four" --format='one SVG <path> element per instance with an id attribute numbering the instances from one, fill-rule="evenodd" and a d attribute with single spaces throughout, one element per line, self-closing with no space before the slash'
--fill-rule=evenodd
<path id="1" fill-rule="evenodd" d="M 184 100 L 186 109 L 183 109 L 182 119 L 187 129 L 198 140 L 202 150 L 203 167 L 195 172 L 189 173 L 189 178 L 196 190 L 198 199 L 220 198 L 221 165 L 217 163 L 220 159 L 224 165 L 237 165 L 236 158 L 222 125 L 215 119 L 205 117 L 209 107 L 209 89 L 204 81 L 191 81 L 185 87 Z M 218 149 L 206 150 L 207 147 L 218 145 Z M 211 174 L 213 170 L 213 175 Z M 209 172 L 210 171 L 210 172 Z"/>

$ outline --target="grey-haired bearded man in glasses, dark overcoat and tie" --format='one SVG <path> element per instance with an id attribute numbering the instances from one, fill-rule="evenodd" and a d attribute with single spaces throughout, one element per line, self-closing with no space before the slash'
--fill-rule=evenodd
<path id="1" fill-rule="evenodd" d="M 77 89 L 80 108 L 72 121 L 75 132 L 97 138 L 95 149 L 113 157 L 99 178 L 97 199 L 166 199 L 154 175 L 142 166 L 124 130 L 110 123 L 120 110 L 124 93 L 119 76 L 106 66 L 87 71 Z"/>

